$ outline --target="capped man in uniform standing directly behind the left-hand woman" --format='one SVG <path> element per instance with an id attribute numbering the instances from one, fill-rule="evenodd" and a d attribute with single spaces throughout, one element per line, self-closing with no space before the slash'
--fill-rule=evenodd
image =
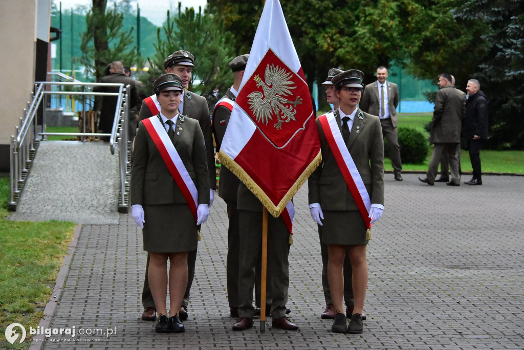
<path id="1" fill-rule="evenodd" d="M 191 81 L 191 73 L 194 67 L 194 57 L 189 51 L 179 50 L 171 53 L 164 60 L 164 68 L 167 73 L 174 73 L 180 76 L 182 79 L 182 85 L 184 90 L 182 91 L 182 98 L 178 110 L 180 114 L 196 119 L 202 133 L 204 134 L 205 141 L 205 152 L 208 161 L 208 172 L 209 172 L 209 183 L 210 183 L 210 206 L 213 204 L 214 194 L 213 189 L 215 188 L 215 156 L 213 150 L 213 135 L 211 132 L 211 120 L 209 114 L 208 102 L 206 99 L 194 92 L 188 91 L 187 87 Z M 158 114 L 158 108 L 156 102 L 156 95 L 151 95 L 142 101 L 140 108 L 139 119 L 143 121 L 152 115 Z M 188 318 L 188 304 L 189 304 L 189 291 L 193 283 L 194 271 L 196 263 L 196 249 L 192 250 L 188 254 L 188 285 L 185 289 L 184 300 L 182 302 L 182 308 L 180 308 L 180 319 L 186 320 Z M 155 303 L 151 296 L 149 289 L 149 282 L 147 279 L 147 267 L 149 266 L 149 259 L 146 263 L 146 279 L 144 281 L 144 290 L 142 292 L 142 304 L 144 305 L 144 313 L 142 314 L 143 320 L 156 320 Z"/>

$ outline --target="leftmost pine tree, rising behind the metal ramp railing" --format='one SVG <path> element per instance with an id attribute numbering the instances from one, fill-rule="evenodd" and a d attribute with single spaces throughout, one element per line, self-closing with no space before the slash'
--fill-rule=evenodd
<path id="1" fill-rule="evenodd" d="M 126 65 L 143 66 L 144 60 L 133 47 L 133 30 L 123 30 L 124 15 L 115 7 L 107 9 L 106 0 L 93 0 L 93 6 L 85 16 L 86 31 L 81 34 L 79 61 L 96 81 L 104 76 L 107 64 L 112 61 Z"/>

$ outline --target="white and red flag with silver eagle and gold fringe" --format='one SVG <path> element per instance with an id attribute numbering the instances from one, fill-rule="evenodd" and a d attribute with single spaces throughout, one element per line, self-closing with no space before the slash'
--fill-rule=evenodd
<path id="1" fill-rule="evenodd" d="M 320 164 L 311 95 L 278 0 L 264 5 L 220 159 L 275 217 Z"/>

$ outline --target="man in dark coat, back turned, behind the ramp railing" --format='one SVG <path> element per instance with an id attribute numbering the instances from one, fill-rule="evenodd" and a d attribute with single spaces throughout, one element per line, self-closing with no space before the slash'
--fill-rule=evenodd
<path id="1" fill-rule="evenodd" d="M 129 85 L 129 104 L 128 108 L 129 111 L 134 108 L 138 102 L 138 90 L 137 85 L 134 79 L 129 78 L 124 73 L 124 65 L 122 62 L 114 61 L 110 64 L 110 74 L 106 75 L 102 78 L 102 83 L 123 83 L 124 86 Z M 94 92 L 118 92 L 117 86 L 97 86 L 93 89 Z M 115 111 L 116 111 L 116 103 L 117 103 L 117 97 L 116 96 L 102 96 L 102 99 L 96 99 L 97 101 L 101 101 L 102 103 L 99 104 L 99 107 L 97 109 L 100 111 L 100 121 L 99 121 L 99 129 L 101 133 L 104 134 L 111 134 L 113 129 L 113 121 L 115 119 Z M 104 141 L 109 141 L 109 136 L 104 136 L 102 138 Z"/>

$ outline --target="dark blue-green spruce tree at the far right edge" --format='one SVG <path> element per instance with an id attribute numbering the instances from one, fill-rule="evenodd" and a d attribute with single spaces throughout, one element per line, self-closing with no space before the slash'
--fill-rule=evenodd
<path id="1" fill-rule="evenodd" d="M 481 23 L 481 44 L 489 50 L 476 56 L 478 79 L 487 96 L 489 140 L 494 149 L 524 149 L 524 6 L 522 1 L 467 1 L 457 19 Z"/>

